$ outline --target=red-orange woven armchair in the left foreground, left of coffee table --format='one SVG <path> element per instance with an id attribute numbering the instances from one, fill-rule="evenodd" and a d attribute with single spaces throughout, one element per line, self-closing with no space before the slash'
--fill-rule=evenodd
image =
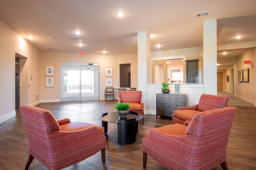
<path id="1" fill-rule="evenodd" d="M 102 151 L 105 163 L 104 128 L 69 119 L 57 121 L 48 110 L 23 105 L 20 107 L 29 139 L 29 158 L 25 169 L 36 158 L 48 169 L 61 169 L 81 162 Z"/>

